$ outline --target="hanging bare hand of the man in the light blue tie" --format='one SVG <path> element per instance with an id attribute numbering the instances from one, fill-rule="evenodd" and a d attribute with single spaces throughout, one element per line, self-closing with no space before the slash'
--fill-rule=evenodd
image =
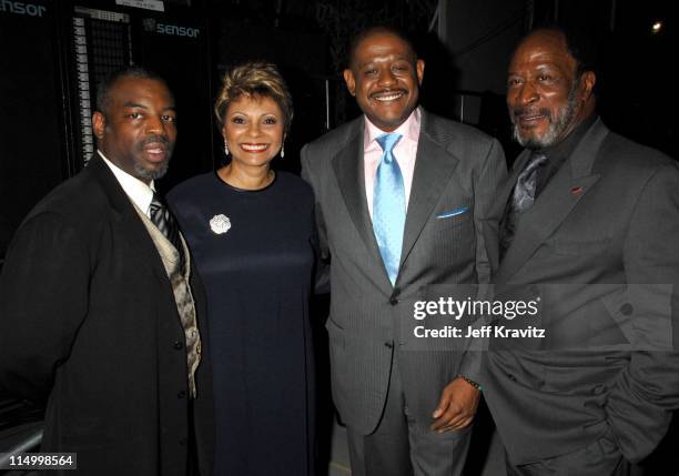
<path id="1" fill-rule="evenodd" d="M 450 429 L 460 429 L 469 425 L 476 415 L 480 392 L 457 377 L 444 388 L 440 394 L 438 407 L 432 415 L 435 421 L 430 428 L 444 433 Z"/>

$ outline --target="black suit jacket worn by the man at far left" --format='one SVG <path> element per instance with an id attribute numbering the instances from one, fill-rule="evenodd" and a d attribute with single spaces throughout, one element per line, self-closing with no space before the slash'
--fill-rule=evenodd
<path id="1" fill-rule="evenodd" d="M 205 300 L 195 427 L 211 473 Z M 78 453 L 87 475 L 184 475 L 184 332 L 160 255 L 108 165 L 94 156 L 28 215 L 0 276 L 0 391 L 47 403 L 43 452 Z M 65 474 L 73 474 L 68 472 Z"/>

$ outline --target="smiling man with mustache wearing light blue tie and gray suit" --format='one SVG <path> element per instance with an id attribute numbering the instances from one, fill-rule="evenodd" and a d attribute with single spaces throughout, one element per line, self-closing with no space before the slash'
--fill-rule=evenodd
<path id="1" fill-rule="evenodd" d="M 504 154 L 482 132 L 417 108 L 424 61 L 392 29 L 354 40 L 344 78 L 364 115 L 307 144 L 302 166 L 331 262 L 333 397 L 352 472 L 458 475 L 477 362 L 416 342 L 413 308 L 427 285 L 489 281 Z"/>

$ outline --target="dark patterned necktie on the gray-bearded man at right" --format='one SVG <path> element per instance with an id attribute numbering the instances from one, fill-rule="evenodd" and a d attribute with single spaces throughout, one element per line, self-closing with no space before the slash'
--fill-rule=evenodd
<path id="1" fill-rule="evenodd" d="M 526 212 L 535 202 L 537 188 L 537 172 L 540 165 L 547 162 L 547 156 L 541 152 L 533 152 L 524 170 L 519 173 L 514 185 L 514 192 L 507 201 L 505 217 L 500 232 L 500 260 L 509 249 L 516 226 L 521 213 Z"/>

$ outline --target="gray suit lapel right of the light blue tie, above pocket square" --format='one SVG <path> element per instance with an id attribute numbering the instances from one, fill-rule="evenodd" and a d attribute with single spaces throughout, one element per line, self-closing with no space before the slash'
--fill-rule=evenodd
<path id="1" fill-rule="evenodd" d="M 419 237 L 434 206 L 440 199 L 446 185 L 450 182 L 458 160 L 450 155 L 428 134 L 429 117 L 423 112 L 422 131 L 417 142 L 417 159 L 411 188 L 411 200 L 406 216 L 401 265 L 407 260 L 415 242 Z"/>

